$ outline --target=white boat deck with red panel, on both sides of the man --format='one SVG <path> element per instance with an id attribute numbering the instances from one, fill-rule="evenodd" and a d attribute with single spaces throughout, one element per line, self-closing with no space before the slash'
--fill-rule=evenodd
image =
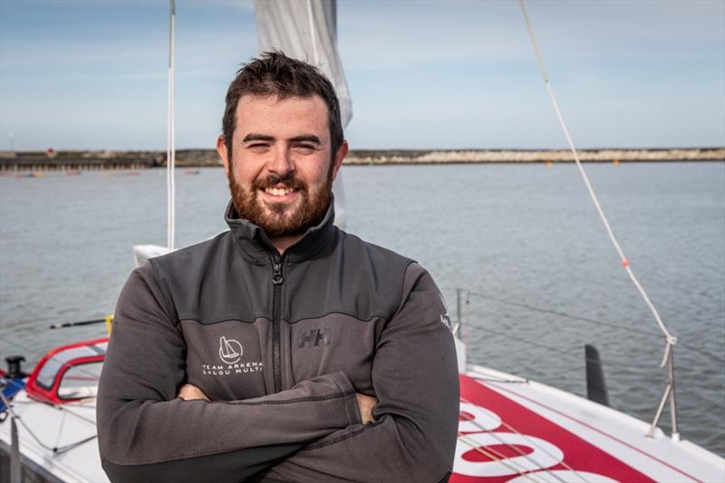
<path id="1" fill-rule="evenodd" d="M 94 399 L 51 406 L 20 391 L 13 409 L 46 447 L 62 448 L 96 433 Z M 26 428 L 18 430 L 24 459 L 56 478 L 108 481 L 96 439 L 54 454 Z M 467 365 L 461 375 L 459 430 L 451 482 L 725 481 L 725 459 L 689 441 L 673 441 L 661 430 L 647 438 L 649 424 L 641 420 L 477 365 Z M 5 449 L 10 438 L 6 420 L 0 424 Z"/>

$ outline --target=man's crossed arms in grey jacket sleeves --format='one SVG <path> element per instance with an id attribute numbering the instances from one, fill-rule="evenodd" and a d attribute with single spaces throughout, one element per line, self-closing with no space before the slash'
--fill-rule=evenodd
<path id="1" fill-rule="evenodd" d="M 134 271 L 99 389 L 99 444 L 111 481 L 446 478 L 458 427 L 452 336 L 430 275 L 413 264 L 403 285 L 407 296 L 376 345 L 378 402 L 370 411 L 359 401 L 370 406 L 372 396 L 361 398 L 344 372 L 244 401 L 184 401 L 183 335 L 148 265 Z"/>

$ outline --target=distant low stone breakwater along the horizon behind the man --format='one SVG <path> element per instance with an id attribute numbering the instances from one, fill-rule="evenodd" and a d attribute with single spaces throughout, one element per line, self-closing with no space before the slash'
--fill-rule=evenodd
<path id="1" fill-rule="evenodd" d="M 725 148 L 579 150 L 584 162 L 722 161 Z M 566 163 L 569 150 L 351 150 L 348 165 Z M 220 166 L 216 150 L 177 150 L 179 168 Z M 0 171 L 149 169 L 166 166 L 166 151 L 0 151 Z"/>

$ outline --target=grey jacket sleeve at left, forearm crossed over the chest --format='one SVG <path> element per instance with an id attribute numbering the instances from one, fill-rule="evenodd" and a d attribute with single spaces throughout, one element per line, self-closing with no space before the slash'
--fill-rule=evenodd
<path id="1" fill-rule="evenodd" d="M 240 481 L 310 441 L 360 422 L 343 372 L 245 401 L 182 401 L 186 344 L 150 264 L 121 291 L 97 422 L 111 481 Z"/>

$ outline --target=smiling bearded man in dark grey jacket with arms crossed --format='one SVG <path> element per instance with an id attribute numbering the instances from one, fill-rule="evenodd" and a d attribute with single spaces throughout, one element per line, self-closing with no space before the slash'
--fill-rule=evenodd
<path id="1" fill-rule="evenodd" d="M 419 265 L 333 226 L 332 84 L 265 53 L 227 92 L 230 231 L 121 292 L 98 399 L 112 481 L 448 478 L 458 372 Z"/>

